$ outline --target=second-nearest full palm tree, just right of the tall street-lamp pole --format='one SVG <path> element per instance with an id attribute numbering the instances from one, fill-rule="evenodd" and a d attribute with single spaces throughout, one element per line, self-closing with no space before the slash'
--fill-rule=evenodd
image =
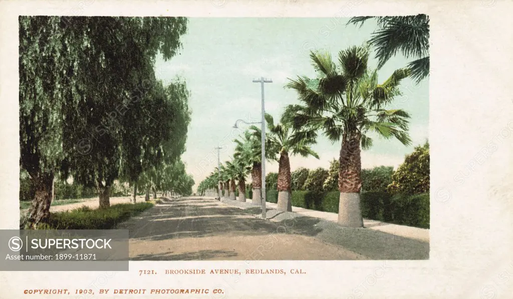
<path id="1" fill-rule="evenodd" d="M 269 133 L 266 135 L 266 152 L 278 160 L 278 207 L 279 211 L 292 211 L 291 176 L 290 176 L 290 155 L 301 155 L 303 157 L 313 156 L 319 159 L 319 155 L 312 151 L 310 145 L 315 143 L 314 130 L 295 130 L 291 121 L 286 119 L 289 115 L 284 114 L 281 123 L 274 124 L 271 115 L 266 114 L 265 120 Z M 252 130 L 260 133 L 258 127 L 252 126 Z M 277 155 L 279 159 L 276 159 Z"/>

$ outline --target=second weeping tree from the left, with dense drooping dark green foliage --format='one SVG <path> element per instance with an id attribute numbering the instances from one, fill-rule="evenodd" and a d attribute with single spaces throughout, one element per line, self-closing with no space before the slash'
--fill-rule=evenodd
<path id="1" fill-rule="evenodd" d="M 186 20 L 85 20 L 90 24 L 90 39 L 98 41 L 87 54 L 100 57 L 101 63 L 91 66 L 84 61 L 80 67 L 102 75 L 84 76 L 88 88 L 83 91 L 83 101 L 66 113 L 63 147 L 90 142 L 89 153 L 68 155 L 66 162 L 74 178 L 98 189 L 100 208 L 104 208 L 110 205 L 112 181 L 122 175 L 121 161 L 135 163 L 130 171 L 134 178 L 144 170 L 145 161 L 160 162 L 163 144 L 173 138 L 171 119 L 176 111 L 162 83 L 156 81 L 153 67 L 157 53 L 165 59 L 176 53 Z"/>

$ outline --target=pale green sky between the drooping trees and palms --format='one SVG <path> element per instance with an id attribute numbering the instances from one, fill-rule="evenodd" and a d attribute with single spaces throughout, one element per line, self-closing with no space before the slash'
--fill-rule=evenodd
<path id="1" fill-rule="evenodd" d="M 299 103 L 294 91 L 284 89 L 287 77 L 314 76 L 308 53 L 315 48 L 327 49 L 333 57 L 348 47 L 361 45 L 376 28 L 372 20 L 362 28 L 346 26 L 348 19 L 336 18 L 190 18 L 188 32 L 182 36 L 180 55 L 164 62 L 157 59 L 155 73 L 165 82 L 176 75 L 187 81 L 191 91 L 187 149 L 182 160 L 192 174 L 196 186 L 217 166 L 218 144 L 221 162 L 231 158 L 231 142 L 242 132 L 232 129 L 237 119 L 260 121 L 260 84 L 252 79 L 267 77 L 265 109 L 278 119 L 286 105 Z M 338 60 L 338 59 L 334 59 Z M 382 82 L 396 69 L 405 67 L 407 59 L 398 55 L 379 71 Z M 370 67 L 377 60 L 371 55 Z M 409 78 L 401 83 L 403 96 L 390 108 L 401 108 L 411 115 L 411 146 L 397 140 L 374 139 L 370 150 L 362 152 L 362 167 L 398 166 L 413 146 L 428 138 L 428 79 L 420 84 Z M 242 128 L 247 126 L 240 125 Z M 338 158 L 340 144 L 332 144 L 320 134 L 313 146 L 320 159 L 293 156 L 292 170 L 300 166 L 315 168 L 329 165 Z M 277 172 L 277 162 L 267 162 L 266 172 Z M 195 187 L 196 187 L 195 186 Z"/>

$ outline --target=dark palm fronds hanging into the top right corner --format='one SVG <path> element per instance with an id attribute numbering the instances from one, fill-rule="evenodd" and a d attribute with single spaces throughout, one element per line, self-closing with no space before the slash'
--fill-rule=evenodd
<path id="1" fill-rule="evenodd" d="M 376 18 L 379 29 L 372 33 L 369 44 L 376 50 L 378 68 L 390 57 L 401 52 L 406 58 L 416 60 L 408 63 L 411 77 L 419 83 L 429 75 L 429 17 L 425 14 L 408 16 L 359 16 L 352 17 L 347 24 L 365 23 Z"/>

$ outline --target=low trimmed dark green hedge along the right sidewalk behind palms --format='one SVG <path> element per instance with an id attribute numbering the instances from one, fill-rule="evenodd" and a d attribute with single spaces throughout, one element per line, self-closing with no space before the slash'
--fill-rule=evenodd
<path id="1" fill-rule="evenodd" d="M 267 202 L 278 202 L 278 191 L 266 192 Z M 339 212 L 339 191 L 292 191 L 292 206 L 324 212 Z M 400 225 L 429 228 L 429 194 L 391 196 L 383 192 L 364 192 L 360 197 L 362 216 Z"/>

